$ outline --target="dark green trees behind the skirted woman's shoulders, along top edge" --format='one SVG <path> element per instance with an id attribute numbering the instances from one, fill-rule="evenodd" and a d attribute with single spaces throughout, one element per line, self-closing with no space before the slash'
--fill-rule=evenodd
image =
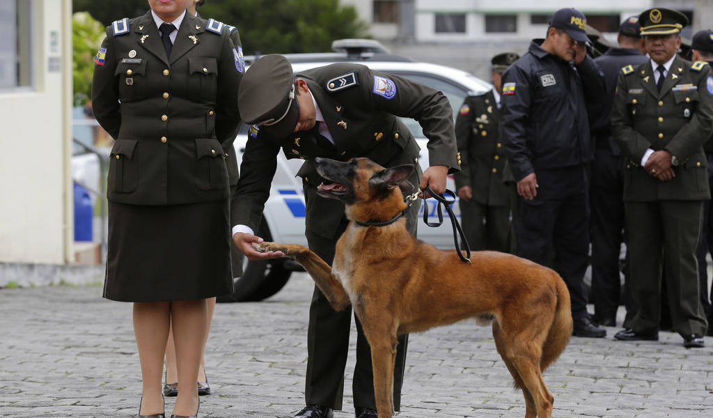
<path id="1" fill-rule="evenodd" d="M 146 0 L 73 0 L 73 6 L 104 25 L 148 10 Z M 339 0 L 206 0 L 198 13 L 237 27 L 246 54 L 327 52 L 334 39 L 368 36 L 354 7 Z"/>

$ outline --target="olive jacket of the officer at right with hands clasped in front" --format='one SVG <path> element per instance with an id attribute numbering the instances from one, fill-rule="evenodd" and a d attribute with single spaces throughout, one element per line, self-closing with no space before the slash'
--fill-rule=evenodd
<path id="1" fill-rule="evenodd" d="M 612 106 L 612 133 L 627 159 L 624 200 L 709 198 L 703 144 L 712 132 L 713 77 L 707 63 L 676 56 L 660 92 L 651 61 L 622 68 Z M 673 180 L 657 180 L 642 168 L 649 148 L 677 158 Z"/>

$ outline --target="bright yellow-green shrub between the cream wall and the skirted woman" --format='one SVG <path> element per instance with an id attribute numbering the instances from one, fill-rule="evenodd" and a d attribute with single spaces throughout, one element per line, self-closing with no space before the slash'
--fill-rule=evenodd
<path id="1" fill-rule="evenodd" d="M 72 15 L 72 76 L 74 106 L 82 106 L 91 98 L 91 78 L 94 56 L 104 39 L 104 26 L 86 11 Z"/>

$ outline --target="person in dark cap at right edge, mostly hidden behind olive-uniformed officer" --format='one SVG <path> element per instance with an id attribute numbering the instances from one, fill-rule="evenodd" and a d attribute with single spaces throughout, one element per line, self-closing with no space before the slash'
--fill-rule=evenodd
<path id="1" fill-rule="evenodd" d="M 698 31 L 694 34 L 691 42 L 691 52 L 693 61 L 706 61 L 709 65 L 713 62 L 713 31 L 706 29 Z M 703 150 L 706 152 L 708 160 L 708 185 L 710 190 L 713 190 L 713 137 L 703 144 Z M 703 310 L 708 319 L 707 335 L 713 335 L 713 307 L 711 300 L 713 299 L 713 288 L 708 289 L 708 263 L 706 255 L 709 252 L 713 253 L 713 223 L 711 223 L 711 210 L 713 205 L 710 200 L 703 201 L 703 229 L 701 240 L 698 244 L 698 275 L 700 287 L 700 299 L 703 305 Z M 712 297 L 709 299 L 709 295 Z"/>

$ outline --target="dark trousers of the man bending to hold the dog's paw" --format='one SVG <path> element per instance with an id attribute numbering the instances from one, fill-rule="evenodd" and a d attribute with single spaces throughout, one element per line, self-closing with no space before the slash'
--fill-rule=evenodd
<path id="1" fill-rule="evenodd" d="M 420 171 L 420 170 L 419 170 Z M 420 177 L 420 173 L 419 173 Z M 411 183 L 419 184 L 418 177 L 409 178 Z M 305 190 L 305 198 L 315 199 L 316 189 L 313 187 Z M 412 235 L 416 235 L 419 220 L 419 200 L 414 202 L 406 214 L 406 228 Z M 332 265 L 337 240 L 347 229 L 346 218 L 337 235 L 333 238 L 324 238 L 310 231 L 306 231 L 309 249 L 319 255 L 322 260 Z M 374 374 L 371 370 L 371 348 L 361 330 L 359 320 L 356 321 L 356 367 L 352 381 L 354 407 L 376 409 L 374 399 Z M 307 330 L 307 376 L 304 383 L 304 399 L 309 404 L 317 404 L 332 409 L 342 409 L 342 392 L 344 392 L 344 367 L 347 365 L 347 352 L 349 347 L 349 332 L 352 321 L 352 308 L 347 307 L 342 312 L 337 312 L 329 305 L 329 301 L 321 291 L 314 287 L 312 305 L 309 307 L 309 328 Z M 394 364 L 394 409 L 401 409 L 401 384 L 404 382 L 404 368 L 406 365 L 406 348 L 409 336 L 399 336 L 399 345 L 396 347 L 396 362 Z"/>

